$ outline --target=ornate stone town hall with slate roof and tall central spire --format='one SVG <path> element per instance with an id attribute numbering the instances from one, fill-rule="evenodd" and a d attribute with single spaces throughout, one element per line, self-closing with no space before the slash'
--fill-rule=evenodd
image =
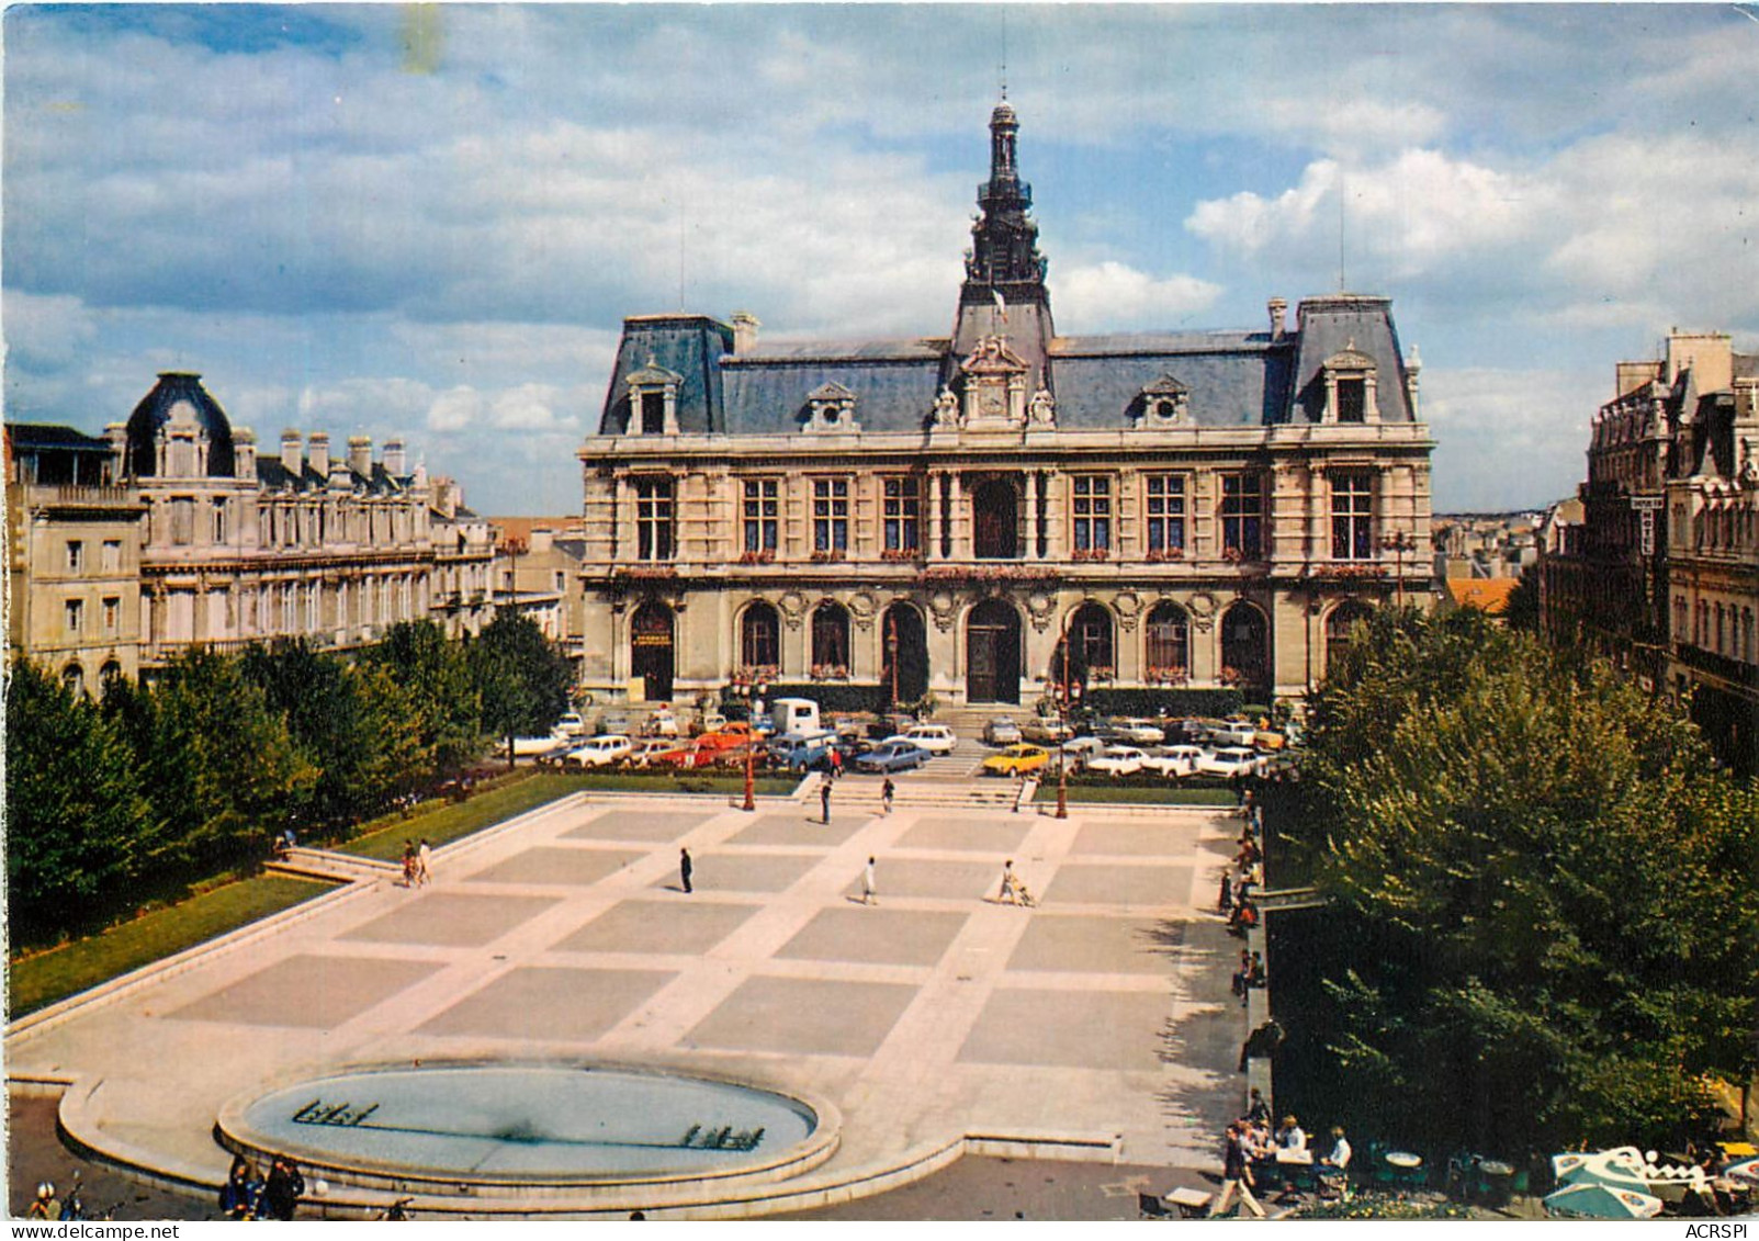
<path id="1" fill-rule="evenodd" d="M 1266 701 L 1365 608 L 1428 603 L 1432 441 L 1390 302 L 1059 336 L 1017 128 L 997 105 L 950 336 L 624 320 L 580 450 L 588 689 L 1031 703 L 1068 635 L 1089 684 Z"/>

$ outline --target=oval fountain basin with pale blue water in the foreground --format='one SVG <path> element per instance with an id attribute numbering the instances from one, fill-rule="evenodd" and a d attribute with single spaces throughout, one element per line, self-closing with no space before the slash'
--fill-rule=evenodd
<path id="1" fill-rule="evenodd" d="M 836 1146 L 820 1109 L 770 1090 L 573 1065 L 338 1072 L 234 1100 L 216 1129 L 338 1179 L 485 1188 L 790 1176 Z"/>

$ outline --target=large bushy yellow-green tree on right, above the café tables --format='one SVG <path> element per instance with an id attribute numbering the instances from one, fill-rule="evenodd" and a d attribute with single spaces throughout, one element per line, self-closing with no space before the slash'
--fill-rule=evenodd
<path id="1" fill-rule="evenodd" d="M 1759 791 L 1597 661 L 1377 615 L 1314 707 L 1316 944 L 1363 1118 L 1500 1151 L 1675 1143 L 1752 1072 Z"/>

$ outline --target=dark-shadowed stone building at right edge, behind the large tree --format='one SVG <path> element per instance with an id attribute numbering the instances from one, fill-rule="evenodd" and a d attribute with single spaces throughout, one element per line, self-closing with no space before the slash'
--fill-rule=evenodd
<path id="1" fill-rule="evenodd" d="M 1580 520 L 1543 540 L 1541 613 L 1692 715 L 1738 770 L 1759 770 L 1759 357 L 1720 332 L 1673 332 L 1659 362 L 1620 362 L 1588 445 Z"/>

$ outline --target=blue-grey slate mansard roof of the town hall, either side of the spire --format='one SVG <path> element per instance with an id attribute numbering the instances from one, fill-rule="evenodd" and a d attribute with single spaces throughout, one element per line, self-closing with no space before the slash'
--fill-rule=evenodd
<path id="1" fill-rule="evenodd" d="M 1186 422 L 1251 427 L 1319 422 L 1325 364 L 1346 353 L 1372 360 L 1381 422 L 1411 422 L 1404 359 L 1384 297 L 1309 299 L 1281 339 L 1270 330 L 1059 336 L 1050 343 L 1048 371 L 1064 431 L 1131 425 L 1133 406 L 1163 378 L 1186 388 Z M 682 376 L 677 422 L 684 434 L 795 432 L 807 396 L 825 383 L 855 394 L 864 431 L 920 431 L 941 376 L 957 367 L 946 337 L 777 341 L 734 355 L 732 329 L 718 320 L 637 316 L 623 325 L 600 434 L 628 431 L 628 380 L 649 359 Z"/>

